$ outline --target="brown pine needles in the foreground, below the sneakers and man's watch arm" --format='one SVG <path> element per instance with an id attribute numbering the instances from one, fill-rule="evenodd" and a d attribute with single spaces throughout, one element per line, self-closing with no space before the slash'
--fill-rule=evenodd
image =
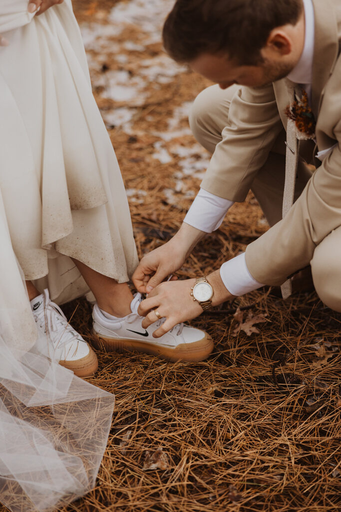
<path id="1" fill-rule="evenodd" d="M 237 304 L 269 322 L 234 337 L 231 314 L 202 315 L 193 324 L 216 348 L 200 364 L 98 354 L 92 381 L 116 394 L 116 414 L 97 487 L 65 512 L 338 509 L 340 315 L 314 294 L 284 304 L 255 292 Z M 88 318 L 81 302 L 83 334 Z M 320 339 L 332 344 L 328 361 Z M 158 448 L 169 467 L 144 470 Z"/>

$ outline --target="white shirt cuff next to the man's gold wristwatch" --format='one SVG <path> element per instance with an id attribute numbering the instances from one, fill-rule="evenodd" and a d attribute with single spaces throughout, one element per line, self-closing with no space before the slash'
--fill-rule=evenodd
<path id="1" fill-rule="evenodd" d="M 249 273 L 245 261 L 245 252 L 223 263 L 220 267 L 220 277 L 225 288 L 237 297 L 264 286 Z"/>

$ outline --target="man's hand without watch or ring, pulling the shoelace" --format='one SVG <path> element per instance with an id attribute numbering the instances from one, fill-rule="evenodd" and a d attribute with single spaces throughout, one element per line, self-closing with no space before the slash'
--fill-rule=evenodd
<path id="1" fill-rule="evenodd" d="M 132 276 L 136 289 L 140 293 L 150 293 L 170 274 L 181 268 L 204 234 L 206 233 L 183 223 L 169 242 L 142 258 Z M 172 280 L 175 279 L 176 277 L 172 278 Z"/>

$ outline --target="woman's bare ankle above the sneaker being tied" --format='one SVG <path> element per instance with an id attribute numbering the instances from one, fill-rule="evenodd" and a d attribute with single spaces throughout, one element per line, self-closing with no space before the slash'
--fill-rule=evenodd
<path id="1" fill-rule="evenodd" d="M 84 263 L 74 259 L 73 261 L 103 311 L 120 318 L 131 313 L 130 303 L 133 296 L 127 283 L 119 284 L 115 279 L 96 272 Z"/>

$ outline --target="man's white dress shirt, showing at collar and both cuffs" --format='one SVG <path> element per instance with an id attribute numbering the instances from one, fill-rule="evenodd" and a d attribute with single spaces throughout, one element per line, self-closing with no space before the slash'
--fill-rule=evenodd
<path id="1" fill-rule="evenodd" d="M 312 65 L 314 56 L 314 9 L 311 0 L 303 0 L 305 16 L 305 41 L 302 55 L 297 66 L 289 73 L 288 78 L 294 83 L 303 86 L 311 100 Z M 328 151 L 328 150 L 327 150 Z M 324 155 L 323 155 L 324 156 Z M 319 154 L 317 154 L 319 158 Z M 322 158 L 321 158 L 322 159 Z M 226 213 L 234 203 L 222 199 L 200 188 L 194 199 L 184 222 L 200 231 L 212 233 L 221 225 Z M 248 271 L 245 253 L 223 263 L 220 267 L 220 276 L 226 289 L 233 295 L 244 295 L 249 291 L 257 290 L 262 283 L 256 281 Z"/>

